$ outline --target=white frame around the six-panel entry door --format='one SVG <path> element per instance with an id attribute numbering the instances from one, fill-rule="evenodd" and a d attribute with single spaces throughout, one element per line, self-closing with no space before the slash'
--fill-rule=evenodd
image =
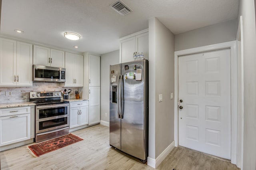
<path id="1" fill-rule="evenodd" d="M 178 57 L 194 53 L 202 53 L 219 49 L 230 49 L 231 77 L 231 163 L 236 164 L 237 145 L 237 42 L 224 42 L 191 49 L 174 51 L 174 142 L 179 145 L 179 116 L 178 116 Z"/>

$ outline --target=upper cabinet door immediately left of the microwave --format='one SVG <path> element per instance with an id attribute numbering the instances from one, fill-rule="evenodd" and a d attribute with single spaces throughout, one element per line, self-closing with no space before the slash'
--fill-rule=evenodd
<path id="1" fill-rule="evenodd" d="M 17 42 L 17 86 L 32 86 L 33 45 Z"/>

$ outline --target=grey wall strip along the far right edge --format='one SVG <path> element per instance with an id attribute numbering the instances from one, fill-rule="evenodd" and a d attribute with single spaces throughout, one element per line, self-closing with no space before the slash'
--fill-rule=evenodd
<path id="1" fill-rule="evenodd" d="M 240 0 L 243 18 L 244 150 L 243 170 L 256 170 L 256 28 L 253 0 Z M 239 18 L 239 17 L 238 17 Z"/>

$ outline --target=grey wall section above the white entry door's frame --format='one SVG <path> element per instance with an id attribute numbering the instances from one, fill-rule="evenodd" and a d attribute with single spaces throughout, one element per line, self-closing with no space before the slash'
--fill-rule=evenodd
<path id="1" fill-rule="evenodd" d="M 237 19 L 198 28 L 174 36 L 175 51 L 236 40 Z"/>

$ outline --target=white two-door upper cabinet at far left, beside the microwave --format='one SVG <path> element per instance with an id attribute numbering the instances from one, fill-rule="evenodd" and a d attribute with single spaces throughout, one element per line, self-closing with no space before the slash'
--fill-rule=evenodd
<path id="1" fill-rule="evenodd" d="M 0 86 L 32 86 L 32 47 L 0 38 Z"/>

